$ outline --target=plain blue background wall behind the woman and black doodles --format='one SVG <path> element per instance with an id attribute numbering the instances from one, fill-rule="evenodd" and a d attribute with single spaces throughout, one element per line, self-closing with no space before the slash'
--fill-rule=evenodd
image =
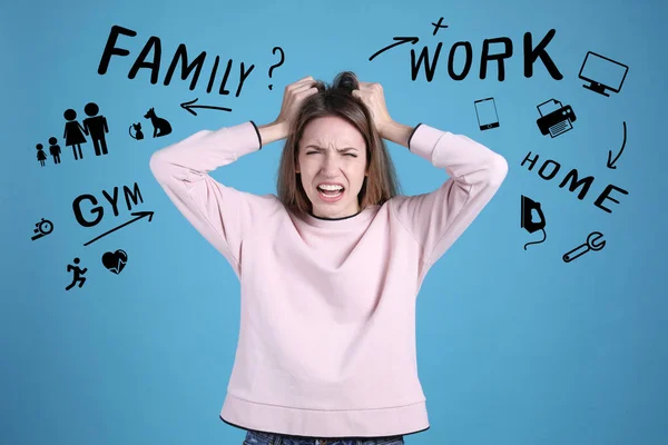
<path id="1" fill-rule="evenodd" d="M 501 189 L 464 235 L 430 270 L 418 298 L 419 372 L 431 428 L 407 444 L 665 444 L 668 442 L 667 308 L 662 279 L 667 247 L 664 137 L 666 117 L 665 2 L 597 1 L 90 1 L 13 2 L 1 7 L 0 88 L 4 107 L 2 202 L 2 309 L 0 310 L 0 442 L 7 444 L 240 444 L 244 432 L 218 418 L 232 370 L 239 320 L 239 286 L 232 268 L 180 216 L 153 178 L 148 161 L 157 149 L 200 129 L 255 120 L 273 121 L 283 89 L 305 76 L 331 82 L 342 70 L 377 81 L 394 120 L 425 122 L 466 135 L 503 155 L 509 174 Z M 433 36 L 432 22 L 443 17 Z M 97 72 L 110 28 L 137 32 L 117 46 Z M 551 78 L 542 62 L 523 75 L 522 39 L 536 46 L 557 33 L 548 52 L 563 75 Z M 149 71 L 128 72 L 150 36 L 160 39 L 159 82 Z M 369 61 L 393 37 L 419 43 L 395 47 Z M 505 80 L 497 63 L 480 79 L 484 39 L 508 37 L 513 56 Z M 448 76 L 448 53 L 470 41 L 473 65 L 462 81 Z M 410 51 L 443 42 L 431 82 L 424 67 L 411 79 Z M 178 44 L 189 60 L 207 52 L 195 90 L 175 75 L 163 85 Z M 285 61 L 273 53 L 283 48 Z M 492 52 L 500 51 L 494 46 Z M 578 72 L 587 51 L 629 66 L 619 93 L 603 97 L 582 88 Z M 153 52 L 151 52 L 153 55 Z M 228 96 L 206 93 L 215 55 L 216 88 L 233 59 Z M 461 56 L 458 56 L 461 68 Z M 255 65 L 238 97 L 239 66 Z M 269 90 L 268 85 L 274 89 Z M 500 127 L 481 131 L 473 102 L 494 97 Z M 229 107 L 232 112 L 179 103 Z M 537 105 L 554 98 L 578 120 L 556 138 L 536 125 Z M 75 161 L 62 139 L 68 108 L 85 117 L 95 101 L 106 116 L 109 155 L 92 144 Z M 174 132 L 150 137 L 148 108 L 168 119 Z M 128 136 L 141 121 L 146 139 Z M 626 148 L 616 169 L 608 151 Z M 55 136 L 62 162 L 46 167 Z M 254 194 L 275 192 L 283 142 L 239 159 L 213 176 Z M 405 148 L 389 144 L 402 192 L 416 195 L 445 179 Z M 529 170 L 527 155 L 539 155 Z M 552 180 L 537 170 L 553 159 Z M 567 171 L 595 176 L 580 200 L 559 188 Z M 144 202 L 119 216 L 102 196 L 114 187 L 139 186 Z M 593 201 L 609 184 L 612 212 Z M 104 205 L 96 227 L 81 227 L 73 199 L 95 195 Z M 520 227 L 520 196 L 540 201 L 547 239 Z M 89 206 L 84 207 L 85 210 Z M 84 247 L 84 243 L 155 211 Z M 50 235 L 32 241 L 35 224 L 53 221 Z M 602 250 L 572 263 L 561 256 L 593 230 Z M 127 267 L 115 275 L 102 266 L 107 250 L 124 249 Z M 69 291 L 67 265 L 79 257 L 86 283 Z"/>

